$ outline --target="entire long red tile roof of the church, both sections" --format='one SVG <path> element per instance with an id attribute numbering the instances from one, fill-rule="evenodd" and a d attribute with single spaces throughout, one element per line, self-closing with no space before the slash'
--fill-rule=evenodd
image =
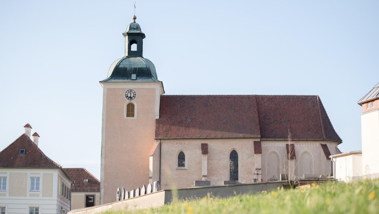
<path id="1" fill-rule="evenodd" d="M 155 138 L 261 138 L 342 142 L 318 96 L 162 95 Z"/>

